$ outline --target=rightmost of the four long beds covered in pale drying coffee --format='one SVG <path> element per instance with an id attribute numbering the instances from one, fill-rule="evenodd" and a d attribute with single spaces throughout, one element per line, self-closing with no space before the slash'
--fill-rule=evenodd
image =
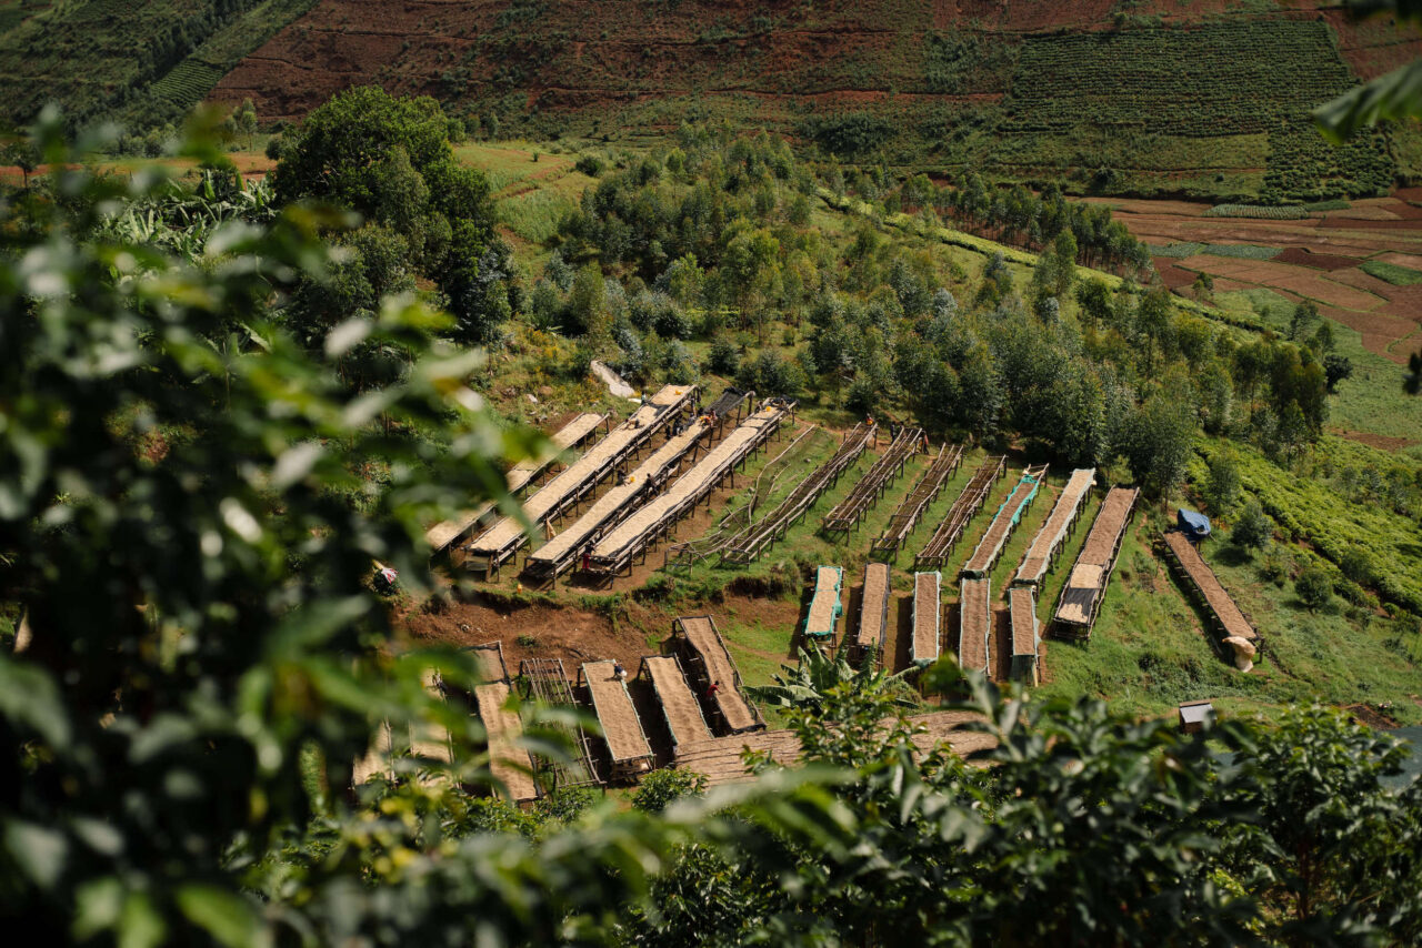
<path id="1" fill-rule="evenodd" d="M 681 517 L 735 472 L 757 448 L 769 441 L 789 415 L 793 402 L 774 401 L 747 418 L 720 445 L 707 452 L 690 470 L 677 478 L 667 490 L 643 505 L 636 513 L 613 527 L 592 550 L 592 570 L 607 577 L 631 570 L 634 557 L 671 532 Z"/>

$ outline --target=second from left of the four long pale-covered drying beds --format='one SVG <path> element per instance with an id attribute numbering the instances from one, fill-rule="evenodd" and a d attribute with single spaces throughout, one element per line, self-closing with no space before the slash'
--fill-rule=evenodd
<path id="1" fill-rule="evenodd" d="M 631 418 L 587 449 L 587 452 L 549 480 L 523 505 L 523 515 L 533 526 L 542 526 L 563 515 L 587 496 L 604 479 L 636 453 L 647 441 L 671 424 L 695 397 L 695 385 L 667 385 L 633 412 Z M 523 522 L 503 517 L 474 543 L 465 556 L 465 566 L 495 574 L 528 542 Z"/>

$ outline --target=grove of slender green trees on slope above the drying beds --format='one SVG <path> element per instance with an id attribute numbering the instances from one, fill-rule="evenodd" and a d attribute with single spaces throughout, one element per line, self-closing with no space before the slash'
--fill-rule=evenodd
<path id="1" fill-rule="evenodd" d="M 725 318 L 762 345 L 771 320 L 805 325 L 805 344 L 754 360 L 732 360 L 722 340 L 715 365 L 734 362 L 762 394 L 808 388 L 852 412 L 907 409 L 936 433 L 1024 436 L 1071 465 L 1125 458 L 1156 490 L 1183 475 L 1202 426 L 1280 452 L 1321 432 L 1327 343 L 1240 345 L 1165 290 L 1081 280 L 1082 260 L 1145 256 L 1102 208 L 1052 189 L 994 195 L 978 179 L 899 185 L 902 203 L 937 202 L 1044 247 L 1028 274 L 997 256 L 974 284 L 869 223 L 838 244 L 803 208 L 812 188 L 784 142 L 684 129 L 677 148 L 604 175 L 565 222 L 559 260 L 596 260 L 589 280 L 607 281 L 565 300 L 546 276 L 535 296 L 638 379 L 657 375 L 647 352 L 668 337 L 711 338 Z"/>

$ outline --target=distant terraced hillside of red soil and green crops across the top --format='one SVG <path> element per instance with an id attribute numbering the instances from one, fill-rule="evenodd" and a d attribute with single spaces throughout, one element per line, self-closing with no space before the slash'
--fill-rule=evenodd
<path id="1" fill-rule="evenodd" d="M 502 135 L 636 141 L 683 121 L 728 121 L 846 161 L 987 166 L 1075 192 L 1314 199 L 1371 196 L 1422 175 L 1415 126 L 1334 151 L 1307 121 L 1357 80 L 1422 54 L 1422 40 L 1308 1 L 81 0 L 0 10 L 0 88 L 17 121 L 48 97 L 139 129 L 203 97 L 252 98 L 267 122 L 299 119 L 337 90 L 378 82 L 434 95 L 471 128 Z"/>

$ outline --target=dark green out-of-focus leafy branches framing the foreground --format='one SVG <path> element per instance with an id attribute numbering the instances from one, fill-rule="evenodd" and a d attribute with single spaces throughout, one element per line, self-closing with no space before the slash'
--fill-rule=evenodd
<path id="1" fill-rule="evenodd" d="M 283 331 L 340 215 L 263 202 L 198 243 L 122 222 L 169 185 L 53 168 L 0 212 L 0 914 L 74 944 L 1376 944 L 1422 937 L 1422 792 L 1327 712 L 1186 736 L 967 682 L 991 766 L 916 758 L 900 685 L 788 672 L 809 766 L 631 813 L 492 803 L 482 733 L 394 655 L 371 561 L 536 445 L 408 298 Z M 199 159 L 215 155 L 192 148 Z M 195 199 L 203 199 L 202 195 Z M 240 202 L 239 202 L 240 203 Z M 201 215 L 199 215 L 201 216 Z M 391 371 L 358 388 L 343 360 Z M 441 438 L 417 432 L 442 432 Z M 367 476 L 378 466 L 381 476 Z M 415 590 L 417 594 L 419 590 Z M 961 688 L 951 668 L 934 689 Z M 341 790 L 378 721 L 455 772 Z M 557 753 L 542 746 L 545 753 Z M 680 797 L 680 799 L 678 799 Z"/>

